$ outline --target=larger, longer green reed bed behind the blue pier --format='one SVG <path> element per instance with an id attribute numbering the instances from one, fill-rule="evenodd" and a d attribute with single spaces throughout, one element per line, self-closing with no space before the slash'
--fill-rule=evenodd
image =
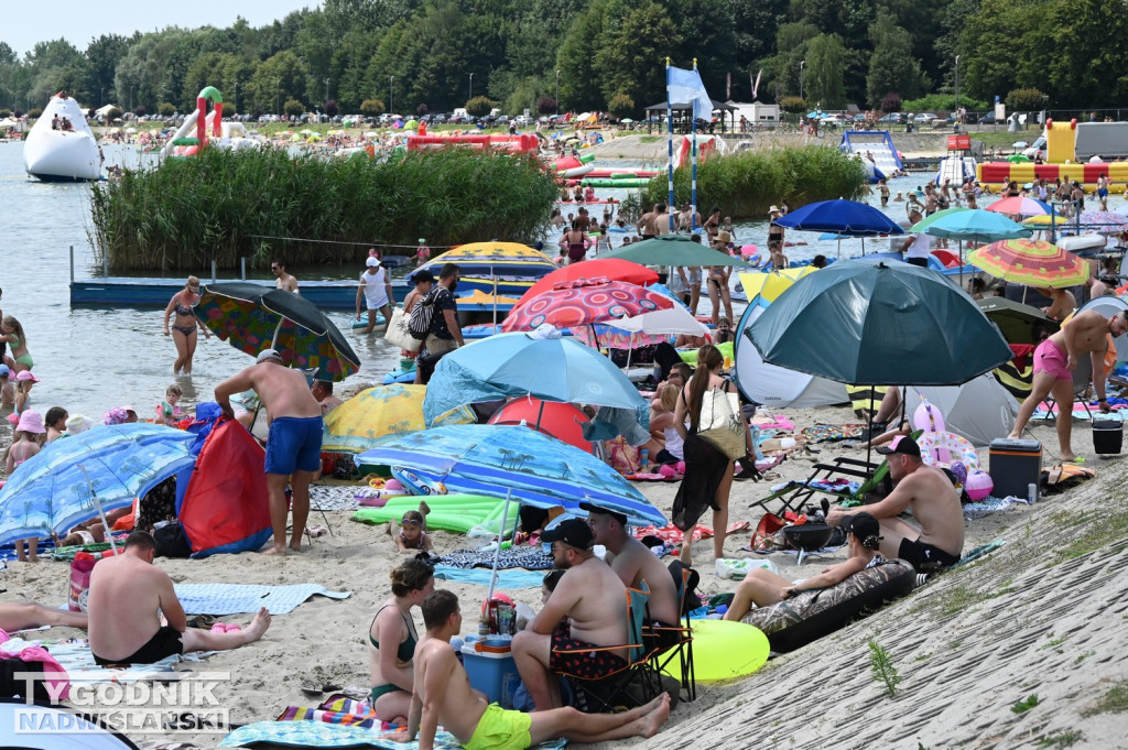
<path id="1" fill-rule="evenodd" d="M 358 261 L 367 244 L 414 248 L 420 237 L 432 246 L 531 241 L 555 198 L 535 159 L 491 151 L 381 161 L 208 149 L 96 185 L 91 239 L 118 271 L 199 270 L 213 259 L 235 268 L 240 257 L 263 265 L 275 255 L 323 265 Z"/>

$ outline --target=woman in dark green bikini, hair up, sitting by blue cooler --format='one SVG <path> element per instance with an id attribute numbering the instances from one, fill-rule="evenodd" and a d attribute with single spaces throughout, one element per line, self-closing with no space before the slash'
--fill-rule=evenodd
<path id="1" fill-rule="evenodd" d="M 432 591 L 434 568 L 418 558 L 404 561 L 391 570 L 391 598 L 376 610 L 369 626 L 370 700 L 381 721 L 407 724 L 414 685 L 412 659 L 418 642 L 411 612 Z"/>

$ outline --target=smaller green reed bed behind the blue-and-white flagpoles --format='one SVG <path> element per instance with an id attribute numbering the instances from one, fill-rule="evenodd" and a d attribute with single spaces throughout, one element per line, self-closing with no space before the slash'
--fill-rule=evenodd
<path id="1" fill-rule="evenodd" d="M 675 203 L 689 201 L 690 168 L 673 171 Z M 761 219 L 785 201 L 792 209 L 814 201 L 861 194 L 865 171 L 857 159 L 822 145 L 774 148 L 715 156 L 697 166 L 697 208 L 706 214 L 720 206 L 734 220 Z M 623 202 L 620 213 L 640 215 L 669 198 L 667 175 L 656 176 Z"/>

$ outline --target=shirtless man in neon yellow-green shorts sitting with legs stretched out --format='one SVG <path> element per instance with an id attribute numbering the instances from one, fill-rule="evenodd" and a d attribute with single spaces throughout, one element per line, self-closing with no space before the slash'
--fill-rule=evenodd
<path id="1" fill-rule="evenodd" d="M 441 589 L 431 592 L 423 601 L 423 624 L 426 635 L 415 647 L 415 689 L 407 730 L 384 739 L 411 742 L 418 734 L 421 750 L 430 750 L 442 724 L 467 750 L 529 748 L 556 738 L 596 743 L 654 736 L 670 715 L 666 692 L 620 714 L 583 714 L 570 706 L 531 714 L 503 711 L 470 689 L 466 669 L 450 647 L 450 638 L 462 626 L 458 597 Z"/>

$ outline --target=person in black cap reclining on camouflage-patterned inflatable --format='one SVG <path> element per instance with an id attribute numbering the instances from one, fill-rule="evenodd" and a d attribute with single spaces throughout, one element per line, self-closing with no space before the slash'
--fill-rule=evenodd
<path id="1" fill-rule="evenodd" d="M 768 607 L 784 599 L 791 599 L 803 591 L 827 589 L 841 583 L 855 573 L 884 564 L 885 558 L 878 553 L 881 546 L 881 526 L 869 513 L 855 513 L 848 528 L 843 524 L 849 549 L 849 559 L 823 568 L 818 575 L 792 583 L 765 568 L 756 568 L 737 586 L 737 595 L 724 614 L 726 620 L 740 620 L 755 605 Z"/>

